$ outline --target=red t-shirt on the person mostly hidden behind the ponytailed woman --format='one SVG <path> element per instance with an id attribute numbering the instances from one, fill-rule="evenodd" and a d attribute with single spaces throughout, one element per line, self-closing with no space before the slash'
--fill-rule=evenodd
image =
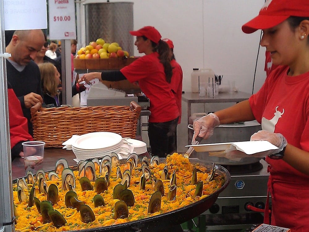
<path id="1" fill-rule="evenodd" d="M 177 63 L 176 60 L 171 60 L 171 66 L 173 67 L 173 75 L 171 78 L 170 86 L 176 98 L 176 104 L 179 111 L 179 120 L 178 120 L 179 124 L 181 120 L 181 95 L 182 95 L 183 73 L 179 63 Z"/>

